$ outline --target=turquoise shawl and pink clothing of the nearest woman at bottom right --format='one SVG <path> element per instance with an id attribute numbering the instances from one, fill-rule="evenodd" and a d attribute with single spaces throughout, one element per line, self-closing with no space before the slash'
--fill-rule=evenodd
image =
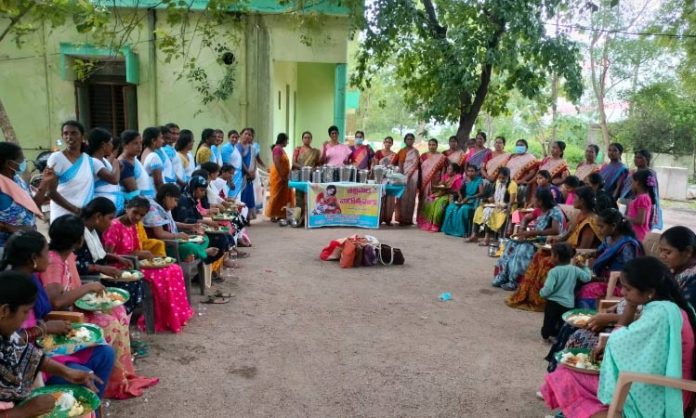
<path id="1" fill-rule="evenodd" d="M 541 393 L 549 408 L 560 408 L 569 418 L 589 418 L 608 409 L 621 371 L 691 379 L 693 350 L 687 315 L 672 302 L 650 302 L 629 327 L 611 333 L 599 376 L 561 367 L 545 376 Z M 678 389 L 635 384 L 622 416 L 683 417 L 689 399 Z"/>

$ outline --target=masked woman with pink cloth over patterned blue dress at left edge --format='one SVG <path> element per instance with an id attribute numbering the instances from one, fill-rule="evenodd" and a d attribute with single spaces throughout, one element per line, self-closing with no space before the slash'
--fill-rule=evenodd
<path id="1" fill-rule="evenodd" d="M 52 175 L 43 178 L 32 199 L 21 177 L 26 168 L 27 160 L 19 145 L 0 142 L 0 252 L 14 232 L 36 229 L 36 217 L 42 217 L 40 207 L 48 200 Z"/>

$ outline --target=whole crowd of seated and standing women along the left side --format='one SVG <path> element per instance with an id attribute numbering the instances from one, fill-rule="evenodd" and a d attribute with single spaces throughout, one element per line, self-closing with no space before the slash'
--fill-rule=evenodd
<path id="1" fill-rule="evenodd" d="M 129 326 L 180 332 L 193 315 L 181 266 L 202 263 L 201 277 L 193 280 L 209 284 L 224 281 L 223 270 L 248 256 L 238 248 L 250 245 L 255 164 L 263 164 L 253 129 L 230 131 L 225 144 L 222 131 L 206 129 L 195 157 L 192 132 L 173 123 L 115 136 L 101 128 L 85 133 L 68 121 L 61 134 L 66 147 L 48 158 L 35 190 L 23 178 L 28 160 L 22 149 L 0 142 L 2 416 L 53 409 L 50 396 L 22 403 L 37 384 L 83 384 L 110 399 L 141 396 L 158 379 L 136 373 L 134 358 L 149 350 L 131 340 Z M 47 202 L 49 239 L 37 231 Z M 168 256 L 178 259 L 153 264 Z M 136 269 L 141 280 L 122 280 Z M 103 311 L 74 306 L 106 287 L 126 290 L 129 300 Z M 209 293 L 203 303 L 231 297 Z M 150 309 L 152 319 L 144 314 Z M 69 322 L 53 319 L 56 311 L 81 313 L 103 339 L 43 353 L 37 339 L 71 330 Z"/>

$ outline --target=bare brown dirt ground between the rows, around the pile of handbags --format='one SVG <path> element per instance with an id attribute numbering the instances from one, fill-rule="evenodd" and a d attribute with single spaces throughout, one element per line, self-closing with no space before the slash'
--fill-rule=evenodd
<path id="1" fill-rule="evenodd" d="M 402 248 L 404 266 L 319 259 L 354 232 L 252 226 L 252 256 L 221 286 L 235 300 L 203 305 L 180 335 L 147 336 L 137 369 L 161 381 L 109 415 L 544 416 L 541 314 L 505 306 L 484 248 L 392 227 L 372 234 Z"/>

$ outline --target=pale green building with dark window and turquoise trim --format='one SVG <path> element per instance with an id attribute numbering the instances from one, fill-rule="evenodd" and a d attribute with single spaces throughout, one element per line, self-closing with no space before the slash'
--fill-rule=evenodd
<path id="1" fill-rule="evenodd" d="M 191 129 L 196 141 L 204 128 L 227 132 L 251 126 L 266 155 L 280 132 L 299 144 L 301 132 L 309 130 L 318 145 L 327 138 L 328 126 L 344 130 L 349 10 L 318 3 L 311 10 L 315 25 L 310 33 L 285 9 L 291 2 L 245 3 L 223 21 L 227 35 L 212 42 L 234 56 L 233 93 L 203 105 L 196 85 L 179 77 L 183 61 L 167 62 L 157 47 L 160 31 L 180 30 L 168 23 L 158 3 L 114 3 L 112 20 L 140 22 L 117 51 L 70 26 L 51 30 L 45 25 L 25 37 L 21 48 L 13 42 L 0 45 L 0 94 L 28 155 L 56 147 L 61 122 L 71 118 L 114 132 L 176 122 Z M 206 3 L 193 1 L 190 13 L 202 13 Z M 206 18 L 195 21 L 205 24 Z M 201 39 L 192 39 L 188 53 L 210 80 L 221 78 L 228 65 Z M 75 63 L 86 61 L 97 63 L 98 70 L 80 79 Z"/>

